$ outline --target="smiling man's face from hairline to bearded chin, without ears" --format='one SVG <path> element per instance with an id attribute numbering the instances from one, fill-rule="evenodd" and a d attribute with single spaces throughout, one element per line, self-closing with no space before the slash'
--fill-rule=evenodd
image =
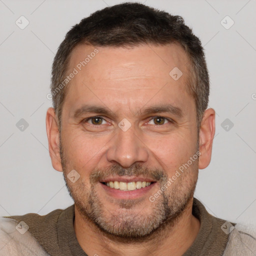
<path id="1" fill-rule="evenodd" d="M 94 49 L 76 47 L 70 72 Z M 185 87 L 189 61 L 176 44 L 97 49 L 64 100 L 64 177 L 84 219 L 120 237 L 144 236 L 174 221 L 196 184 L 198 159 L 188 161 L 198 148 L 195 102 Z M 169 75 L 174 67 L 183 73 L 177 80 Z M 67 178 L 72 169 L 80 175 L 74 183 Z M 134 189 L 139 181 L 151 183 Z"/>

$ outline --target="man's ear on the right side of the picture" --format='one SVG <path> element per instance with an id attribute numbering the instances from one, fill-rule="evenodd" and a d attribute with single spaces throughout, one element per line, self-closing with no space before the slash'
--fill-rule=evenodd
<path id="1" fill-rule="evenodd" d="M 204 111 L 199 131 L 199 169 L 206 168 L 210 163 L 212 141 L 215 134 L 215 111 L 208 108 Z"/>

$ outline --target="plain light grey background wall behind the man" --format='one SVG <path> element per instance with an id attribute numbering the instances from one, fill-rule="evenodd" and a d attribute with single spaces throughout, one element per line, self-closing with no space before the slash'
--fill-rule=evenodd
<path id="1" fill-rule="evenodd" d="M 72 25 L 120 2 L 0 0 L 0 215 L 46 214 L 73 203 L 48 152 L 51 63 Z M 256 224 L 256 0 L 140 2 L 183 16 L 205 48 L 216 133 L 195 196 L 217 217 Z M 15 23 L 25 24 L 21 15 L 29 21 L 24 29 Z"/>

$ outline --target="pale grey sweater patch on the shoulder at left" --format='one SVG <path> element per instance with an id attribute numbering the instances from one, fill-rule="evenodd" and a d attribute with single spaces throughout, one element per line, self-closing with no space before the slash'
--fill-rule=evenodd
<path id="1" fill-rule="evenodd" d="M 48 256 L 24 223 L 0 217 L 0 256 Z"/>

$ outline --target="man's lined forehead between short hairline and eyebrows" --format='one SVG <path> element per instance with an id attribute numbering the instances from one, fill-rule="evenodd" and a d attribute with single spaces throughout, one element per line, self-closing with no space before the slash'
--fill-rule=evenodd
<path id="1" fill-rule="evenodd" d="M 185 51 L 174 43 L 129 48 L 80 44 L 69 60 L 69 71 L 75 68 L 77 74 L 68 84 L 65 100 L 69 106 L 91 101 L 91 96 L 101 103 L 112 97 L 112 103 L 114 99 L 134 107 L 150 98 L 150 102 L 168 98 L 181 103 L 181 97 L 190 96 L 185 88 L 188 66 Z M 182 75 L 173 79 L 175 73 Z"/>

